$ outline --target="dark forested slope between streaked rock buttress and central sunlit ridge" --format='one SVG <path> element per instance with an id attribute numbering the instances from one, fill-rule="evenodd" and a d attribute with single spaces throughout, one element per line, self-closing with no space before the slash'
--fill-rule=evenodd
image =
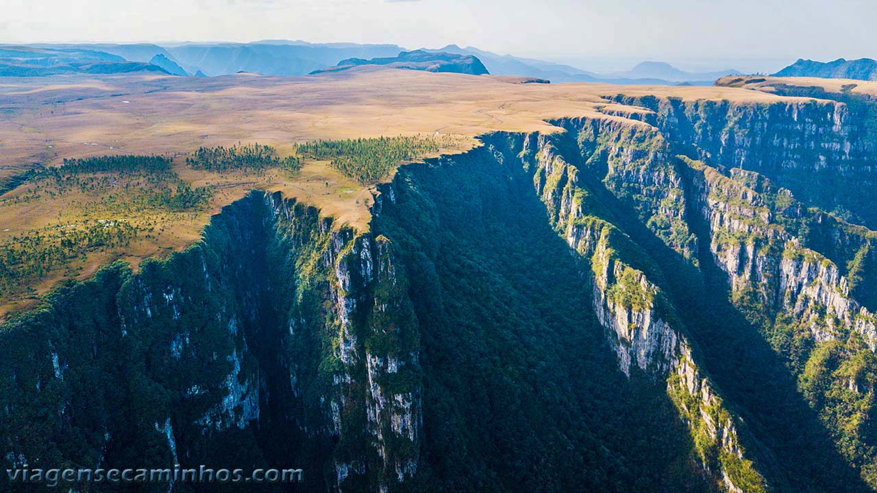
<path id="1" fill-rule="evenodd" d="M 429 490 L 708 490 L 667 396 L 617 369 L 521 171 L 487 152 L 405 168 L 374 221 L 420 321 Z"/>

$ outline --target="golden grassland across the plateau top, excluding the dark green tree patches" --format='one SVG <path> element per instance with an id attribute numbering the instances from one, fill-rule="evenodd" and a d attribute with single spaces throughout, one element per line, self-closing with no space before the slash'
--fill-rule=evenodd
<path id="1" fill-rule="evenodd" d="M 305 161 L 294 176 L 280 169 L 219 174 L 185 166 L 199 146 L 239 142 L 275 146 L 282 156 L 315 139 L 376 138 L 417 134 L 442 139 L 438 154 L 463 152 L 486 132 L 554 132 L 545 120 L 621 118 L 647 110 L 611 104 L 604 96 L 678 96 L 766 102 L 765 91 L 729 87 L 523 84 L 514 77 L 431 74 L 360 68 L 339 74 L 282 78 L 228 75 L 213 78 L 55 76 L 0 79 L 0 182 L 28 168 L 52 167 L 64 158 L 103 154 L 176 156 L 173 171 L 191 187 L 210 186 L 209 204 L 197 211 L 101 211 L 101 196 L 82 190 L 24 201 L 33 183 L 0 196 L 0 244 L 26 232 L 125 220 L 143 228 L 125 247 L 89 252 L 28 286 L 26 296 L 0 298 L 0 316 L 34 303 L 64 278 L 83 278 L 115 259 L 136 268 L 146 257 L 179 251 L 200 238 L 210 216 L 251 189 L 281 191 L 314 204 L 336 224 L 364 231 L 374 187 Z M 645 125 L 633 120 L 631 125 Z M 386 177 L 389 179 L 390 176 Z"/>

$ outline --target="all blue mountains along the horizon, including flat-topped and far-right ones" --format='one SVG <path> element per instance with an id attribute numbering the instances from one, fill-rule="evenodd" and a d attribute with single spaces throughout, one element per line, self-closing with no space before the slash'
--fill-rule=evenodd
<path id="1" fill-rule="evenodd" d="M 431 58 L 426 54 L 441 56 Z M 456 67 L 453 63 L 447 63 L 451 60 L 449 55 L 468 58 L 465 61 L 460 59 L 462 66 Z M 412 56 L 419 59 L 414 60 Z M 0 46 L 0 76 L 132 72 L 181 76 L 248 72 L 295 76 L 334 72 L 344 66 L 349 68 L 365 63 L 429 69 L 423 65 L 428 59 L 439 61 L 439 65 L 432 68 L 433 71 L 478 74 L 483 70 L 493 75 L 518 75 L 551 82 L 712 85 L 725 75 L 742 75 L 731 68 L 716 72 L 688 72 L 661 61 L 643 61 L 630 70 L 595 73 L 551 61 L 496 54 L 474 46 L 447 45 L 410 52 L 396 45 L 317 44 L 272 39 L 253 43 L 182 43 L 165 46 L 151 43 Z M 868 58 L 841 58 L 830 62 L 799 59 L 774 75 L 873 81 L 877 80 L 877 61 Z"/>

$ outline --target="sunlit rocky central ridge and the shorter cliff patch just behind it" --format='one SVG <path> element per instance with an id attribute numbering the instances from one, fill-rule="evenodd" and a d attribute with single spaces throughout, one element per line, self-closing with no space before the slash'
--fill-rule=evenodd
<path id="1" fill-rule="evenodd" d="M 591 135 L 589 132 L 594 132 L 592 129 L 595 124 L 580 121 L 574 125 L 584 126 L 588 136 Z M 597 128 L 600 126 L 597 125 Z M 598 135 L 594 140 L 610 139 L 613 149 L 629 145 L 628 141 L 619 139 L 620 132 L 614 125 L 609 125 L 604 131 L 610 135 Z M 621 175 L 618 182 L 625 182 L 625 186 L 642 186 L 644 189 L 654 188 L 655 183 L 664 185 L 658 187 L 660 189 L 681 186 L 677 172 L 667 172 L 664 164 L 666 156 L 660 156 L 660 151 L 660 147 L 656 148 L 645 159 L 645 164 L 637 164 L 637 161 L 649 154 L 610 151 L 607 159 L 612 164 L 607 168 L 604 179 L 617 183 L 610 177 Z M 667 394 L 679 407 L 689 432 L 698 444 L 702 468 L 714 476 L 714 482 L 722 484 L 729 491 L 741 491 L 741 485 L 748 490 L 764 489 L 764 478 L 752 468 L 752 461 L 745 456 L 740 445 L 735 425 L 739 418 L 724 407 L 714 384 L 699 368 L 701 365 L 692 356 L 691 345 L 679 324 L 679 318 L 672 313 L 660 288 L 650 282 L 644 272 L 632 268 L 629 263 L 631 260 L 625 263 L 624 256 L 619 254 L 619 250 L 636 249 L 635 246 L 625 245 L 630 244 L 631 240 L 614 225 L 591 215 L 593 211 L 588 210 L 586 201 L 572 198 L 588 193 L 584 189 L 586 185 L 579 183 L 579 171 L 567 163 L 550 139 L 526 139 L 521 155 L 524 160 L 534 156 L 535 163 L 529 168 L 534 171 L 534 185 L 548 206 L 555 229 L 567 239 L 569 247 L 587 259 L 591 266 L 588 275 L 593 286 L 593 309 L 606 330 L 610 347 L 617 354 L 619 368 L 630 376 L 631 368 L 636 367 L 659 382 L 667 382 Z M 649 173 L 652 167 L 658 168 L 654 175 Z M 638 168 L 637 174 L 621 171 L 628 168 Z M 558 175 L 565 179 L 557 179 Z M 570 198 L 558 200 L 556 197 L 559 196 Z M 667 194 L 648 196 L 645 193 L 642 196 L 650 202 L 666 201 L 668 197 Z M 685 210 L 684 204 L 677 205 L 681 205 L 681 211 Z M 647 210 L 640 208 L 640 211 Z M 685 217 L 668 209 L 658 208 L 653 212 L 664 218 L 682 220 Z M 653 225 L 653 217 L 645 218 L 645 222 Z M 687 227 L 685 231 L 688 232 Z M 670 240 L 667 243 L 681 249 L 686 257 L 694 254 L 688 250 L 688 246 L 695 242 L 680 245 Z M 663 313 L 658 309 L 658 304 L 664 307 Z M 709 447 L 718 447 L 722 451 L 717 468 L 707 457 Z"/>

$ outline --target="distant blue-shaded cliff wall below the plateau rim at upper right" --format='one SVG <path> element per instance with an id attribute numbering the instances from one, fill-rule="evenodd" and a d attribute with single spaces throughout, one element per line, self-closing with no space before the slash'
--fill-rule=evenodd
<path id="1" fill-rule="evenodd" d="M 877 183 L 874 105 L 855 98 L 832 101 L 824 93 L 788 95 L 812 99 L 774 104 L 613 99 L 653 111 L 652 123 L 677 152 L 717 167 L 757 171 L 826 211 L 877 227 L 869 207 Z M 847 193 L 850 189 L 857 193 Z"/>

